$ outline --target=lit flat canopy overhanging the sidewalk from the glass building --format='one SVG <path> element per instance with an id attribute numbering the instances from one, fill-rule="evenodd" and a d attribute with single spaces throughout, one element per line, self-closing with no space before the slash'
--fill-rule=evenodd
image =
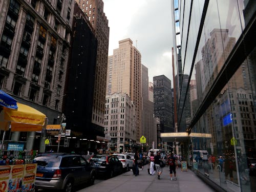
<path id="1" fill-rule="evenodd" d="M 211 138 L 209 133 L 190 133 L 187 132 L 176 132 L 176 133 L 161 133 L 161 139 L 163 142 L 182 142 L 190 140 L 190 138 Z"/>

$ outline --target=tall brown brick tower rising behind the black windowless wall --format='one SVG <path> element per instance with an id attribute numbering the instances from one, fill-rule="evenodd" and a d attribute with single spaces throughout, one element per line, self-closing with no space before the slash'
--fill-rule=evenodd
<path id="1" fill-rule="evenodd" d="M 92 123 L 96 130 L 102 130 L 105 111 L 106 75 L 108 71 L 109 21 L 103 11 L 102 0 L 76 0 L 86 13 L 98 40 L 95 68 Z"/>

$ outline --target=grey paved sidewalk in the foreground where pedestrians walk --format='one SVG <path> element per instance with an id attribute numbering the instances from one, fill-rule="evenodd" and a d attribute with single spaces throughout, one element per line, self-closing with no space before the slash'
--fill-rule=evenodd
<path id="1" fill-rule="evenodd" d="M 160 180 L 157 179 L 157 175 L 151 176 L 147 173 L 147 165 L 144 166 L 143 170 L 140 170 L 140 174 L 135 177 L 133 172 L 126 172 L 122 175 L 114 178 L 102 181 L 94 184 L 79 192 L 97 191 L 97 192 L 125 192 L 125 191 L 136 191 L 136 192 L 150 192 L 150 191 L 174 191 L 174 192 L 189 192 L 189 191 L 215 191 L 200 180 L 191 170 L 187 172 L 181 172 L 181 168 L 176 170 L 177 180 L 170 181 L 169 167 L 163 168 L 163 173 Z M 174 177 L 174 175 L 173 175 Z"/>

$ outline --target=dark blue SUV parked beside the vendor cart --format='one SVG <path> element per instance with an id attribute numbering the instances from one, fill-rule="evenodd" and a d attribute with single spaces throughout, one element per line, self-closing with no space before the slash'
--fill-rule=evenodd
<path id="1" fill-rule="evenodd" d="M 84 183 L 94 184 L 96 171 L 80 155 L 44 153 L 35 157 L 37 163 L 35 189 L 64 189 Z"/>

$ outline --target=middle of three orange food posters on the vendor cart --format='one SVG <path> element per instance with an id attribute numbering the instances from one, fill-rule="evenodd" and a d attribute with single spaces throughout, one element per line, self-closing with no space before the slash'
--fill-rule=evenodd
<path id="1" fill-rule="evenodd" d="M 11 165 L 11 174 L 9 177 L 9 184 L 8 184 L 9 192 L 22 191 L 21 187 L 22 187 L 23 173 L 24 173 L 24 165 Z"/>

